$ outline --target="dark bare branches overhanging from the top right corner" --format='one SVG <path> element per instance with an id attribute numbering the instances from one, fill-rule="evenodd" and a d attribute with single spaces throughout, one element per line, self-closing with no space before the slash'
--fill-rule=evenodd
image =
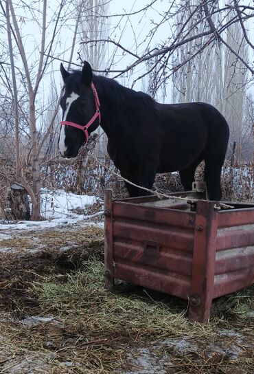
<path id="1" fill-rule="evenodd" d="M 188 1 L 170 1 L 165 5 L 165 10 L 160 12 L 160 18 L 157 21 L 151 19 L 151 26 L 148 34 L 143 41 L 136 43 L 135 50 L 130 50 L 128 45 L 123 45 L 118 38 L 95 39 L 90 43 L 109 43 L 115 45 L 119 52 L 124 51 L 132 59 L 131 63 L 124 69 L 111 69 L 115 72 L 115 77 L 123 76 L 127 72 L 134 72 L 140 65 L 146 61 L 153 61 L 150 71 L 157 68 L 157 80 L 161 84 L 166 82 L 177 69 L 192 61 L 192 59 L 204 50 L 210 50 L 213 45 L 220 43 L 224 45 L 227 50 L 231 51 L 234 56 L 237 56 L 239 61 L 246 67 L 246 69 L 254 74 L 254 63 L 246 60 L 240 56 L 238 48 L 230 46 L 227 43 L 227 34 L 225 31 L 234 23 L 238 23 L 242 28 L 244 40 L 249 45 L 249 48 L 254 49 L 253 43 L 248 36 L 248 23 L 254 17 L 254 7 L 251 1 L 245 0 L 230 0 L 230 1 L 214 1 L 214 0 L 199 0 L 192 6 L 189 17 L 181 23 L 177 24 L 175 21 L 176 14 L 185 14 L 188 8 Z M 153 0 L 143 8 L 133 12 L 123 12 L 122 14 L 112 14 L 111 17 L 126 17 L 131 22 L 132 17 L 137 17 L 140 14 L 140 19 L 149 10 L 155 10 L 159 6 L 159 0 Z M 217 17 L 219 15 L 219 17 Z M 203 29 L 199 30 L 198 25 L 203 23 Z M 168 25 L 168 34 L 165 34 L 164 39 L 160 33 L 164 25 Z M 117 34 L 115 32 L 114 34 Z M 154 40 L 159 36 L 160 44 L 154 47 Z M 172 58 L 175 52 L 183 45 L 192 42 L 192 50 L 189 51 L 189 56 L 181 61 L 178 65 L 172 65 Z M 108 72 L 108 69 L 106 69 Z M 141 69 L 138 79 L 146 76 L 149 71 Z M 159 87 L 159 85 L 158 85 Z"/>

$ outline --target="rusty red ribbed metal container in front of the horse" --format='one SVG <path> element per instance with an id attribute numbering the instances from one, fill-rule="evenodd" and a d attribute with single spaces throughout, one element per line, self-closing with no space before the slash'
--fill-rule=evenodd
<path id="1" fill-rule="evenodd" d="M 105 194 L 106 287 L 114 278 L 189 300 L 189 319 L 207 323 L 211 302 L 254 283 L 254 204 Z M 194 199 L 198 199 L 194 201 Z"/>

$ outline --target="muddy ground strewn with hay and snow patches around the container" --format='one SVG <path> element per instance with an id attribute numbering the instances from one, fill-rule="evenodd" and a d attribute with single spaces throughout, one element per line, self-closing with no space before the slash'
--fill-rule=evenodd
<path id="1" fill-rule="evenodd" d="M 253 288 L 216 300 L 209 325 L 192 324 L 183 300 L 104 290 L 97 225 L 1 238 L 0 373 L 253 374 Z"/>

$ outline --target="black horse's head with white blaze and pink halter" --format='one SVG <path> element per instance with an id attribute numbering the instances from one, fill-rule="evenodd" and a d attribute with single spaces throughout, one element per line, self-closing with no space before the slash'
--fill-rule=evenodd
<path id="1" fill-rule="evenodd" d="M 100 101 L 93 85 L 91 66 L 86 61 L 82 72 L 67 72 L 60 65 L 64 94 L 60 100 L 62 121 L 58 146 L 62 157 L 76 157 L 82 144 L 100 124 Z"/>

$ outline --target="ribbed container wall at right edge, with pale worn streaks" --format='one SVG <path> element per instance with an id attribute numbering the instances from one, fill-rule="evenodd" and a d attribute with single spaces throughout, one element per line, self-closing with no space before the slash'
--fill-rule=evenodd
<path id="1" fill-rule="evenodd" d="M 254 283 L 254 208 L 218 214 L 213 298 Z"/>

